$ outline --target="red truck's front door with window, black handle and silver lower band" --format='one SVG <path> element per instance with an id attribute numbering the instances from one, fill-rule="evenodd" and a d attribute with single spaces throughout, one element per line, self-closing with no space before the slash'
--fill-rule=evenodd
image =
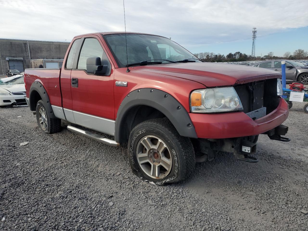
<path id="1" fill-rule="evenodd" d="M 87 58 L 100 57 L 107 65 L 105 75 L 87 73 Z M 71 71 L 72 110 L 75 123 L 114 135 L 114 68 L 98 36 L 83 38 L 77 68 Z"/>

